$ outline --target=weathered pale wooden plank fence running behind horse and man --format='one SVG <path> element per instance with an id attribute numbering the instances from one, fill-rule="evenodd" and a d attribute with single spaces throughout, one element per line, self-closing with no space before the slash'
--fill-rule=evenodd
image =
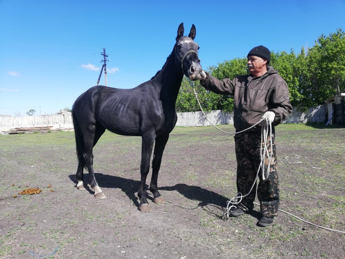
<path id="1" fill-rule="evenodd" d="M 323 123 L 325 122 L 326 105 L 309 108 L 307 112 L 302 112 L 294 108 L 293 113 L 283 123 Z M 211 125 L 202 112 L 177 113 L 176 126 L 194 127 Z M 206 113 L 207 118 L 214 125 L 234 124 L 233 113 L 222 112 L 221 110 Z M 47 127 L 73 128 L 72 116 L 65 115 L 45 115 L 45 116 L 17 116 L 0 117 L 0 133 L 9 131 L 12 128 L 21 127 Z"/>

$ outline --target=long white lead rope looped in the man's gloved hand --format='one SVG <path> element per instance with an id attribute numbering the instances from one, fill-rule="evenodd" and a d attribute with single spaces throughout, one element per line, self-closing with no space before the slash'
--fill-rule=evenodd
<path id="1" fill-rule="evenodd" d="M 242 201 L 242 199 L 243 199 L 244 197 L 248 196 L 249 193 L 253 190 L 254 185 L 255 185 L 255 183 L 256 183 L 256 180 L 258 179 L 258 176 L 259 176 L 260 168 L 262 168 L 263 181 L 266 181 L 266 180 L 267 180 L 267 177 L 268 177 L 268 174 L 269 174 L 269 168 L 270 168 L 269 165 L 270 165 L 270 162 L 271 162 L 271 159 L 272 159 L 272 154 L 273 154 L 273 148 L 272 148 L 272 125 L 271 125 L 271 121 L 270 121 L 268 118 L 262 118 L 262 119 L 260 119 L 259 122 L 257 122 L 257 123 L 254 124 L 253 126 L 247 128 L 246 130 L 239 131 L 239 132 L 232 132 L 232 133 L 231 133 L 231 132 L 225 132 L 225 131 L 221 130 L 220 128 L 218 128 L 217 126 L 215 126 L 213 123 L 211 123 L 210 120 L 207 118 L 206 114 L 204 113 L 203 108 L 201 107 L 201 104 L 200 104 L 200 102 L 199 102 L 199 98 L 198 98 L 197 93 L 196 93 L 196 91 L 195 91 L 194 82 L 192 82 L 188 77 L 187 77 L 187 79 L 188 79 L 188 82 L 189 82 L 190 86 L 191 86 L 192 89 L 193 89 L 194 96 L 195 96 L 195 98 L 196 98 L 197 101 L 198 101 L 198 104 L 199 104 L 199 107 L 200 107 L 200 109 L 201 109 L 201 112 L 204 114 L 206 120 L 207 120 L 212 126 L 214 126 L 215 128 L 217 128 L 219 131 L 221 131 L 221 132 L 223 132 L 223 133 L 225 133 L 225 134 L 238 134 L 238 133 L 245 132 L 245 131 L 249 130 L 250 128 L 256 126 L 257 124 L 259 124 L 260 122 L 262 122 L 262 121 L 265 120 L 265 119 L 266 119 L 266 122 L 268 122 L 267 126 L 262 126 L 262 127 L 261 127 L 261 145 L 260 145 L 260 146 L 261 146 L 261 152 L 260 152 L 261 162 L 260 162 L 258 171 L 257 171 L 257 173 L 256 173 L 256 177 L 255 177 L 254 183 L 253 183 L 253 185 L 252 185 L 252 188 L 250 188 L 249 192 L 248 192 L 246 195 L 242 195 L 242 193 L 239 192 L 239 193 L 237 193 L 236 197 L 231 198 L 229 201 L 226 202 L 226 211 L 225 211 L 225 213 L 222 215 L 222 217 L 223 217 L 224 215 L 226 215 L 226 218 L 229 219 L 229 211 L 231 211 L 231 210 L 233 210 L 233 209 L 236 209 L 237 207 L 236 207 L 235 204 L 240 203 L 240 202 Z M 269 127 L 269 131 L 268 131 L 268 127 Z M 270 144 L 271 144 L 271 152 L 270 152 L 270 154 L 268 154 L 269 152 L 268 152 L 268 148 L 267 148 L 267 137 L 268 137 L 268 132 L 270 132 Z M 264 145 L 263 145 L 263 143 L 264 143 Z M 264 148 L 262 148 L 263 146 L 264 146 Z M 267 153 L 266 153 L 266 152 L 267 152 Z M 267 170 L 266 170 L 266 172 L 265 172 L 265 157 L 266 157 L 266 154 L 267 154 L 267 156 L 268 156 L 268 164 L 267 164 Z M 231 205 L 230 205 L 230 204 L 231 204 Z M 255 203 L 255 202 L 254 202 L 254 204 L 260 205 L 260 204 Z M 303 219 L 301 219 L 301 218 L 298 218 L 297 216 L 295 216 L 295 215 L 293 215 L 293 214 L 291 214 L 291 213 L 289 213 L 289 212 L 287 212 L 287 211 L 284 211 L 284 210 L 281 210 L 281 209 L 278 209 L 278 211 L 282 211 L 282 212 L 284 212 L 284 213 L 286 213 L 286 214 L 289 214 L 289 215 L 291 215 L 292 217 L 294 217 L 294 218 L 296 218 L 296 219 L 299 219 L 299 220 L 301 220 L 301 221 L 303 221 L 303 222 L 305 222 L 305 223 L 311 224 L 311 225 L 313 225 L 313 226 L 315 226 L 315 227 L 322 228 L 322 229 L 326 229 L 326 230 L 328 230 L 328 231 L 334 231 L 334 232 L 339 232 L 339 233 L 345 234 L 344 231 L 340 231 L 340 230 L 335 230 L 335 229 L 330 229 L 330 228 L 325 228 L 325 227 L 322 227 L 322 226 L 318 226 L 318 225 L 316 225 L 316 224 L 314 224 L 314 223 L 311 223 L 311 222 L 309 222 L 309 221 L 306 221 L 306 220 L 303 220 Z"/>

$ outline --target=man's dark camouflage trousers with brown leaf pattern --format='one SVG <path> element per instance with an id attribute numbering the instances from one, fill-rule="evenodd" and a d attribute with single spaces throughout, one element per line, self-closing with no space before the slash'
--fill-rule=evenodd
<path id="1" fill-rule="evenodd" d="M 262 169 L 259 171 L 259 184 L 257 186 L 257 196 L 260 202 L 260 212 L 263 216 L 273 218 L 278 215 L 279 208 L 279 184 L 277 172 L 277 154 L 274 143 L 274 134 L 272 134 L 272 146 L 268 135 L 268 152 L 273 150 L 272 159 L 269 165 L 269 174 L 266 181 L 262 180 Z M 235 150 L 237 160 L 237 191 L 246 195 L 252 187 L 258 168 L 260 166 L 260 144 L 261 132 L 248 132 L 235 135 Z M 265 160 L 267 172 L 268 159 Z M 256 183 L 248 196 L 237 204 L 237 207 L 252 211 L 256 194 Z"/>

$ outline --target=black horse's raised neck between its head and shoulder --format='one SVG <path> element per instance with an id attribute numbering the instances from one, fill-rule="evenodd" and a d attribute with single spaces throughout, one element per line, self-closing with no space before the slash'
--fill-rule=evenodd
<path id="1" fill-rule="evenodd" d="M 156 78 L 157 85 L 160 88 L 160 98 L 167 100 L 169 103 L 172 102 L 174 107 L 183 79 L 183 71 L 178 68 L 178 65 L 175 64 L 175 55 L 172 52 Z"/>

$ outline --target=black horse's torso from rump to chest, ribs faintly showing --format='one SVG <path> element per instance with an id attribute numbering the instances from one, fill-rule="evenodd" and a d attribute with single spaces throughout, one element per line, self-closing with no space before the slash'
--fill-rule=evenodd
<path id="1" fill-rule="evenodd" d="M 77 98 L 73 111 L 79 117 L 78 121 L 101 125 L 120 135 L 171 132 L 176 124 L 175 108 L 166 111 L 159 100 L 159 93 L 149 86 L 140 86 L 132 89 L 91 87 Z"/>

